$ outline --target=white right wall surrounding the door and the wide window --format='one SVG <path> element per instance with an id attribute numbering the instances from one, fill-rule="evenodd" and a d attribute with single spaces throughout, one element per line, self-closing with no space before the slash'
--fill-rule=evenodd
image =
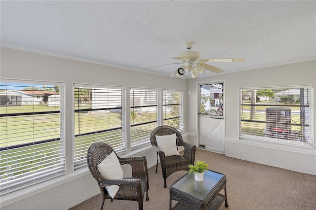
<path id="1" fill-rule="evenodd" d="M 225 154 L 226 156 L 316 175 L 316 149 L 297 148 L 290 145 L 238 139 L 238 88 L 289 85 L 315 85 L 316 61 L 300 62 L 257 70 L 190 80 L 188 98 L 188 132 L 190 142 L 198 143 L 197 83 L 225 81 Z M 315 105 L 314 98 L 314 105 Z M 315 119 L 315 113 L 314 118 Z M 315 120 L 314 120 L 314 130 Z M 315 140 L 315 134 L 314 134 Z"/>

